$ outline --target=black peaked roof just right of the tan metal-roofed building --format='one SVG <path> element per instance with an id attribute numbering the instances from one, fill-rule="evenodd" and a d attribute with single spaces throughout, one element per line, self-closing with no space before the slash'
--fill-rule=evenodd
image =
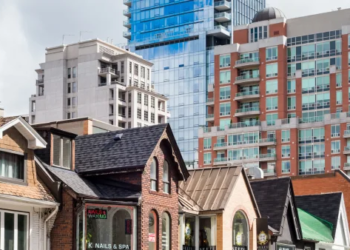
<path id="1" fill-rule="evenodd" d="M 287 216 L 288 204 L 291 206 L 296 235 L 300 239 L 301 228 L 291 179 L 287 177 L 251 181 L 250 185 L 252 186 L 261 216 L 268 218 L 269 226 L 276 229 L 279 233 L 283 229 L 282 222 L 283 218 Z"/>

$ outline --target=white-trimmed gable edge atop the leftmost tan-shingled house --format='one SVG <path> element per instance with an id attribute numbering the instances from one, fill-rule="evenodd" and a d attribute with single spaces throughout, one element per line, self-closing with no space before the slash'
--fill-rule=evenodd
<path id="1" fill-rule="evenodd" d="M 46 147 L 45 140 L 22 117 L 0 118 L 0 139 L 3 133 L 12 127 L 16 128 L 27 139 L 28 148 L 41 149 Z"/>

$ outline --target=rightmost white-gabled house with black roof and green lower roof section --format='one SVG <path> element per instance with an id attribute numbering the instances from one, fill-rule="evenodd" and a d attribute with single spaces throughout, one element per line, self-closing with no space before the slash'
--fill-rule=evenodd
<path id="1" fill-rule="evenodd" d="M 295 197 L 304 241 L 315 249 L 348 249 L 349 226 L 341 192 Z M 301 215 L 301 216 L 300 216 Z"/>

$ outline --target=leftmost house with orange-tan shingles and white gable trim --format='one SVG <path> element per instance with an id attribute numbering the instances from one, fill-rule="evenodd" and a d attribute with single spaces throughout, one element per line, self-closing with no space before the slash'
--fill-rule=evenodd
<path id="1" fill-rule="evenodd" d="M 35 168 L 46 142 L 21 117 L 0 117 L 0 249 L 46 250 L 59 204 Z"/>

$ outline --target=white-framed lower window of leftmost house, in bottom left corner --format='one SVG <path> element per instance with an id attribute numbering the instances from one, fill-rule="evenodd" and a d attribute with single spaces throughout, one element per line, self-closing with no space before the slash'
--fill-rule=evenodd
<path id="1" fill-rule="evenodd" d="M 0 247 L 9 250 L 27 250 L 29 248 L 28 214 L 0 210 L 0 221 L 3 225 L 0 234 Z"/>

